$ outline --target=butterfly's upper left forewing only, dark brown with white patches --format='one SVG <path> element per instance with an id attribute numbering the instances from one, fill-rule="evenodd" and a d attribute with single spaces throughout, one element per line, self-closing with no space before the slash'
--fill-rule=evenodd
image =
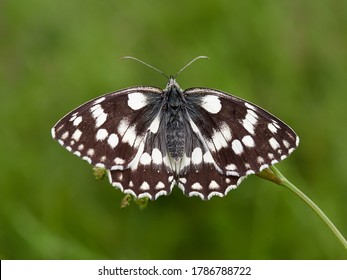
<path id="1" fill-rule="evenodd" d="M 123 169 L 158 113 L 161 92 L 134 87 L 95 98 L 59 120 L 52 136 L 94 166 Z"/>

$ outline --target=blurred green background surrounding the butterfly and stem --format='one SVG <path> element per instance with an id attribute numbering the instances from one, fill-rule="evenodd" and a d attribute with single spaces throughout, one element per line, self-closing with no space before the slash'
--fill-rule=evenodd
<path id="1" fill-rule="evenodd" d="M 182 88 L 234 93 L 288 123 L 277 167 L 347 235 L 347 1 L 1 1 L 0 258 L 345 259 L 288 190 L 250 176 L 206 202 L 179 189 L 121 210 L 123 194 L 51 139 L 98 95 L 175 73 Z"/>

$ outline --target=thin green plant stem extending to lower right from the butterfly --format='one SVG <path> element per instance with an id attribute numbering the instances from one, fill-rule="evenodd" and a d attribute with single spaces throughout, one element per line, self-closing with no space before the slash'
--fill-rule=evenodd
<path id="1" fill-rule="evenodd" d="M 338 238 L 343 247 L 347 250 L 347 241 L 341 234 L 341 232 L 336 228 L 332 221 L 324 214 L 324 212 L 315 204 L 307 195 L 300 191 L 295 185 L 293 185 L 282 173 L 274 166 L 271 166 L 270 169 L 277 175 L 281 182 L 278 184 L 288 188 L 290 191 L 295 193 L 300 197 L 311 209 L 323 220 L 323 222 L 329 227 L 333 234 Z"/>

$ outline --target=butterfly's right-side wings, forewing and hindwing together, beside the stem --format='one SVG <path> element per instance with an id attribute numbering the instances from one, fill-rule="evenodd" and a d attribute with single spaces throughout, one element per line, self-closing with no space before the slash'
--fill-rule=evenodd
<path id="1" fill-rule="evenodd" d="M 190 134 L 200 140 L 190 155 L 196 164 L 181 172 L 181 188 L 188 195 L 223 196 L 245 176 L 285 159 L 299 144 L 285 123 L 241 98 L 207 88 L 187 89 L 184 96 Z"/>

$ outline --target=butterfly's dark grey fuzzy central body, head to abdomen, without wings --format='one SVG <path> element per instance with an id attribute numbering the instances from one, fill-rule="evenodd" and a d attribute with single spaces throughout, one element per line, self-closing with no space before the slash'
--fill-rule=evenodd
<path id="1" fill-rule="evenodd" d="M 166 115 L 166 148 L 169 156 L 180 161 L 184 154 L 185 147 L 185 100 L 183 92 L 174 78 L 164 90 L 164 114 Z"/>

